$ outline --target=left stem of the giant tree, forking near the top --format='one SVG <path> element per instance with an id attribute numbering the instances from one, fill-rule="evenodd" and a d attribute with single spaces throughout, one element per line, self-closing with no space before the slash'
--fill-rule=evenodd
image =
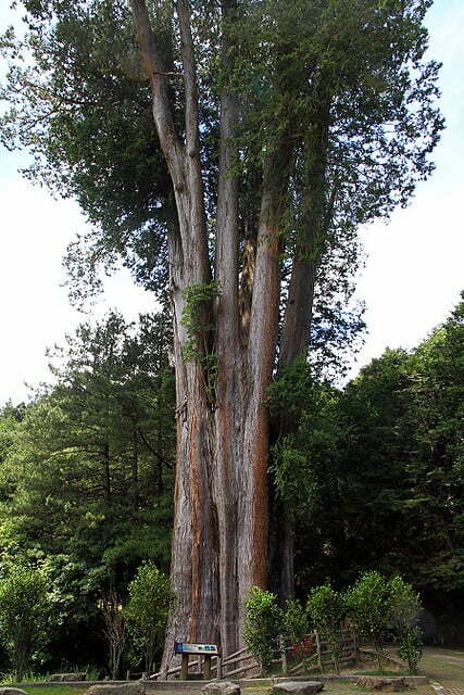
<path id="1" fill-rule="evenodd" d="M 177 2 L 181 36 L 185 104 L 185 146 L 180 142 L 170 103 L 163 64 L 143 0 L 131 0 L 137 36 L 153 96 L 153 119 L 173 181 L 177 225 L 170 233 L 174 353 L 177 399 L 177 466 L 172 577 L 177 596 L 167 630 L 166 658 L 175 637 L 216 640 L 217 549 L 212 490 L 213 432 L 201 364 L 185 364 L 181 345 L 184 290 L 206 283 L 211 271 L 204 222 L 203 184 L 199 155 L 198 97 L 188 3 Z"/>

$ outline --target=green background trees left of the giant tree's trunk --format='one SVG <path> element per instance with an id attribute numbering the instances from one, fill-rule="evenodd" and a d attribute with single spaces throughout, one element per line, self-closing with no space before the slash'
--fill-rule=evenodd
<path id="1" fill-rule="evenodd" d="M 37 563 L 50 593 L 45 668 L 101 668 L 97 599 L 125 596 L 140 563 L 170 564 L 174 382 L 165 319 L 81 325 L 50 356 L 55 377 L 10 416 L 0 475 L 3 563 Z M 11 427 L 10 427 L 11 425 Z M 76 657 L 78 655 L 78 657 Z"/>

